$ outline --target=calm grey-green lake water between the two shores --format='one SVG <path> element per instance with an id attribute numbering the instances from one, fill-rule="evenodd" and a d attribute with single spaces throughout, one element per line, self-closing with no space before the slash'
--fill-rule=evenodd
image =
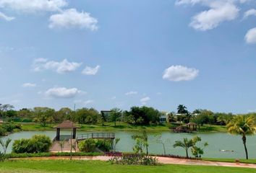
<path id="1" fill-rule="evenodd" d="M 83 134 L 86 132 L 78 131 L 77 134 Z M 132 140 L 131 136 L 134 134 L 138 134 L 135 132 L 115 132 L 116 138 L 121 138 L 119 143 L 116 146 L 118 151 L 132 151 L 132 146 L 135 144 L 135 141 Z M 16 139 L 20 138 L 31 138 L 36 134 L 44 134 L 54 139 L 56 136 L 56 132 L 52 131 L 22 131 L 19 133 L 12 133 L 9 136 L 3 137 L 4 140 L 7 138 L 11 138 L 12 142 Z M 70 134 L 69 131 L 61 131 L 61 135 Z M 155 133 L 149 133 L 149 152 L 152 154 L 163 154 L 163 147 L 160 143 L 155 141 Z M 168 138 L 170 143 L 166 143 L 166 153 L 175 154 L 175 155 L 185 155 L 185 151 L 182 148 L 173 148 L 172 145 L 174 141 L 182 140 L 182 138 L 192 138 L 195 136 L 191 133 L 170 133 L 163 132 L 162 138 Z M 244 158 L 244 146 L 242 144 L 241 136 L 231 136 L 229 133 L 201 133 L 197 136 L 202 138 L 202 142 L 208 142 L 209 146 L 205 148 L 204 157 L 210 158 Z M 8 148 L 8 152 L 12 151 L 12 143 Z M 248 136 L 247 137 L 247 148 L 249 151 L 249 158 L 256 158 L 256 136 Z M 220 150 L 231 150 L 234 152 L 223 152 Z M 191 155 L 191 154 L 190 154 Z"/>

